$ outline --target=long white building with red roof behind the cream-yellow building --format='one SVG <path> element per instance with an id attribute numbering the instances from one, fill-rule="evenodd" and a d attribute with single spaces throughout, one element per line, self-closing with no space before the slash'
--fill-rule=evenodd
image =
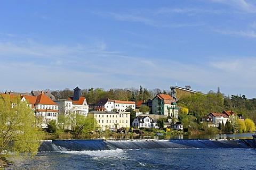
<path id="1" fill-rule="evenodd" d="M 129 107 L 135 109 L 135 101 L 121 101 L 103 98 L 95 103 L 94 109 L 97 107 L 104 107 L 107 109 L 107 112 L 125 112 Z"/>

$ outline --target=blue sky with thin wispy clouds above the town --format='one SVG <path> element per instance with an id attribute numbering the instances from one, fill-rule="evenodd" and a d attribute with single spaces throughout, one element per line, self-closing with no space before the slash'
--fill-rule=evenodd
<path id="1" fill-rule="evenodd" d="M 103 88 L 256 98 L 256 1 L 0 1 L 0 91 Z"/>

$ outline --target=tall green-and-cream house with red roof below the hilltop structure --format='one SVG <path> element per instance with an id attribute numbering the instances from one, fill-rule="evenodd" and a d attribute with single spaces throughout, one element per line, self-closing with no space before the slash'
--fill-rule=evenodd
<path id="1" fill-rule="evenodd" d="M 178 119 L 179 108 L 170 95 L 158 94 L 152 100 L 152 113 Z"/>

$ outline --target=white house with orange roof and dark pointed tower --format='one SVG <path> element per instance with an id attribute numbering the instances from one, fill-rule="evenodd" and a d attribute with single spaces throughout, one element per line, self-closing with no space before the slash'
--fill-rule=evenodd
<path id="1" fill-rule="evenodd" d="M 58 104 L 60 113 L 74 113 L 87 116 L 89 112 L 89 106 L 87 105 L 86 98 L 81 97 L 81 89 L 78 87 L 74 89 L 73 97 L 54 100 L 54 102 Z"/>

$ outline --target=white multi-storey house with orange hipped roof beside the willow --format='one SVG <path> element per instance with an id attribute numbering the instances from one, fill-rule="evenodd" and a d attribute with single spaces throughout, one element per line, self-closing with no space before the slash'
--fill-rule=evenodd
<path id="1" fill-rule="evenodd" d="M 47 124 L 54 120 L 58 124 L 58 105 L 50 97 L 44 95 L 42 91 L 41 95 L 35 97 L 35 115 L 41 117 L 42 122 L 37 124 L 39 128 L 47 128 Z M 33 102 L 33 99 L 30 101 Z"/>

